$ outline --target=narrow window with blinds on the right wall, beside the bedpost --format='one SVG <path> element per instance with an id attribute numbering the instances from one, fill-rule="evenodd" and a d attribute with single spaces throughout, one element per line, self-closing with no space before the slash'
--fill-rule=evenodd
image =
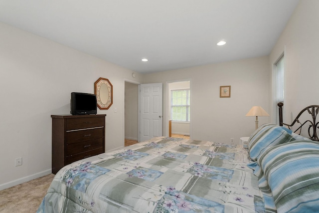
<path id="1" fill-rule="evenodd" d="M 274 103 L 276 110 L 276 124 L 279 125 L 279 102 L 284 103 L 285 98 L 285 56 L 283 55 L 274 66 Z M 285 107 L 285 105 L 284 105 Z M 283 107 L 283 118 L 284 116 Z"/>

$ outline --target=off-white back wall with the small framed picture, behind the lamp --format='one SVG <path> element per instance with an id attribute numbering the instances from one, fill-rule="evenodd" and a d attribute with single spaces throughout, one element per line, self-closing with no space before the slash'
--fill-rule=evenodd
<path id="1" fill-rule="evenodd" d="M 254 105 L 269 106 L 268 56 L 226 63 L 210 64 L 186 69 L 146 74 L 144 83 L 190 79 L 191 129 L 195 140 L 229 143 L 234 138 L 250 136 L 255 130 L 255 118 L 246 117 Z M 220 98 L 219 87 L 231 85 L 231 97 Z M 163 105 L 168 101 L 163 86 Z M 164 107 L 163 129 L 168 128 L 169 115 Z M 268 123 L 270 117 L 260 117 L 259 123 Z M 165 132 L 165 131 L 164 131 Z"/>

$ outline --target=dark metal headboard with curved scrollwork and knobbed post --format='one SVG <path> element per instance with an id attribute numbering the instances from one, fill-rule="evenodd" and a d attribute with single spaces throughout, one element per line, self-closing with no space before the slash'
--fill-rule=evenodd
<path id="1" fill-rule="evenodd" d="M 280 126 L 287 126 L 289 129 L 291 129 L 296 123 L 298 123 L 300 126 L 294 131 L 297 134 L 300 134 L 302 131 L 302 128 L 304 127 L 304 125 L 309 124 L 308 127 L 308 135 L 309 138 L 314 140 L 314 141 L 319 141 L 318 138 L 318 133 L 317 131 L 319 131 L 319 122 L 316 121 L 317 115 L 319 113 L 319 105 L 311 105 L 306 107 L 305 109 L 303 109 L 302 111 L 300 111 L 300 113 L 297 115 L 297 117 L 295 118 L 295 120 L 293 121 L 292 124 L 285 124 L 283 123 L 283 109 L 282 107 L 284 106 L 283 103 L 278 103 L 277 104 L 279 107 L 279 123 Z M 311 115 L 311 119 L 310 120 L 306 120 L 305 122 L 300 122 L 300 116 L 304 113 L 304 112 L 308 112 Z M 307 125 L 306 125 L 307 128 Z"/>

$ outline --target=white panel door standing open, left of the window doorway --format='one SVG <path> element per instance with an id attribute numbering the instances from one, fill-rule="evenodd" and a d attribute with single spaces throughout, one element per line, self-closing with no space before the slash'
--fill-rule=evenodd
<path id="1" fill-rule="evenodd" d="M 139 141 L 162 136 L 162 83 L 139 85 Z"/>

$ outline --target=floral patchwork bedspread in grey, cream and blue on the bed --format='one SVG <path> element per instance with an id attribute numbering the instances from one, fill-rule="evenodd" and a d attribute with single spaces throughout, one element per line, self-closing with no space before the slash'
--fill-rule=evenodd
<path id="1" fill-rule="evenodd" d="M 263 213 L 241 145 L 159 137 L 62 168 L 38 213 Z"/>

